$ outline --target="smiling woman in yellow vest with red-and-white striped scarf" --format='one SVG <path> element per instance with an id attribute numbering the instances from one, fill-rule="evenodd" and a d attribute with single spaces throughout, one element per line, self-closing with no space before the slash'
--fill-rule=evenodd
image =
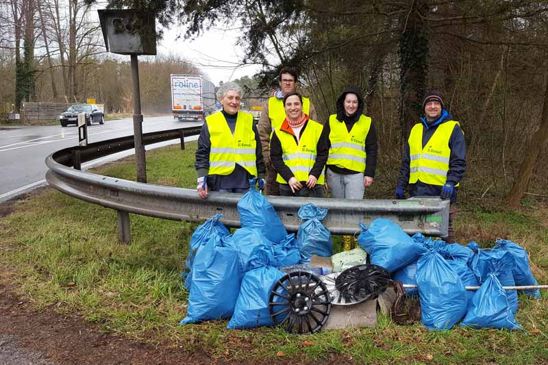
<path id="1" fill-rule="evenodd" d="M 286 118 L 274 130 L 270 144 L 279 190 L 286 197 L 323 197 L 323 168 L 329 141 L 323 126 L 303 113 L 298 92 L 284 96 Z"/>

